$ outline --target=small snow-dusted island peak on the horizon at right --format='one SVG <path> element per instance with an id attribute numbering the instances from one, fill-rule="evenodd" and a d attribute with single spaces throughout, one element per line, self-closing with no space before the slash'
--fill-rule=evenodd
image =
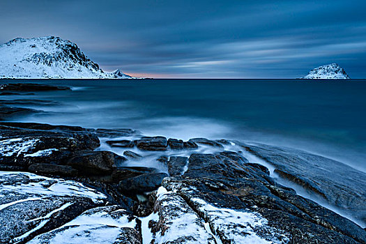
<path id="1" fill-rule="evenodd" d="M 310 70 L 309 74 L 301 79 L 350 79 L 344 69 L 337 63 L 320 66 Z"/>

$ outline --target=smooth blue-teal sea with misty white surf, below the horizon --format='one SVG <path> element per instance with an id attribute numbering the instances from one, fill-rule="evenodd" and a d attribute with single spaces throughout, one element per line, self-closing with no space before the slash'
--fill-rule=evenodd
<path id="1" fill-rule="evenodd" d="M 59 102 L 27 105 L 45 113 L 14 121 L 290 146 L 366 171 L 366 80 L 0 80 L 9 82 L 73 87 L 1 96 Z"/>

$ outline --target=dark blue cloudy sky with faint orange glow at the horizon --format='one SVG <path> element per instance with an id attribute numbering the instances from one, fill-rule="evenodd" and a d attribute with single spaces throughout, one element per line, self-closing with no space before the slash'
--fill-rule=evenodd
<path id="1" fill-rule="evenodd" d="M 0 43 L 59 36 L 103 70 L 154 78 L 366 78 L 365 0 L 0 0 Z"/>

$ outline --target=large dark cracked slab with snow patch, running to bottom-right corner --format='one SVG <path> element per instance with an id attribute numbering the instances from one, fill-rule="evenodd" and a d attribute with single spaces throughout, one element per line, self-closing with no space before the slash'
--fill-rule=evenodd
<path id="1" fill-rule="evenodd" d="M 165 178 L 162 187 L 184 199 L 222 243 L 366 240 L 365 231 L 357 224 L 296 195 L 271 180 L 262 169 L 243 162 L 193 153 L 185 174 Z M 166 201 L 164 206 L 176 203 L 170 194 Z M 159 216 L 163 211 L 160 208 L 154 208 Z M 171 211 L 172 215 L 179 213 L 173 207 Z M 163 220 L 160 217 L 158 222 Z"/>

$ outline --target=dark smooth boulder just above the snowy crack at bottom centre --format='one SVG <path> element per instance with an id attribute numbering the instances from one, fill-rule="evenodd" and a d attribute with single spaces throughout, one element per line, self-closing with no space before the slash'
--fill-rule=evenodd
<path id="1" fill-rule="evenodd" d="M 142 174 L 119 182 L 119 190 L 123 192 L 151 192 L 156 190 L 162 179 L 168 176 L 165 173 Z"/>

